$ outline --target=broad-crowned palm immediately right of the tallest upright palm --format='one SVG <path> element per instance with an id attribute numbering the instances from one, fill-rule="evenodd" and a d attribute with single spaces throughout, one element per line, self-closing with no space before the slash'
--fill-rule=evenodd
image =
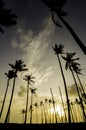
<path id="1" fill-rule="evenodd" d="M 73 58 L 75 56 L 75 54 L 76 53 L 67 53 L 66 57 L 62 56 L 62 58 L 66 61 L 66 65 L 65 65 L 66 70 L 69 68 L 69 70 L 72 73 L 72 76 L 73 76 L 73 79 L 74 79 L 74 82 L 75 82 L 75 86 L 76 86 L 76 90 L 77 90 L 77 94 L 78 94 L 80 104 L 81 104 L 81 107 L 82 107 L 83 118 L 84 118 L 84 121 L 86 122 L 86 115 L 85 115 L 85 111 L 84 111 L 84 105 L 82 103 L 82 98 L 80 96 L 80 91 L 79 91 L 79 88 L 78 88 L 78 85 L 77 85 L 77 82 L 76 82 L 76 79 L 75 79 L 74 70 L 72 68 L 73 62 L 75 62 L 76 60 L 79 60 L 79 58 Z"/>

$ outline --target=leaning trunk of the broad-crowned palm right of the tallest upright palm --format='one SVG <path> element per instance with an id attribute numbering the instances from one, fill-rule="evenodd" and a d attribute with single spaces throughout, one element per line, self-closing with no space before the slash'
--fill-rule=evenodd
<path id="1" fill-rule="evenodd" d="M 77 82 L 76 82 L 76 79 L 75 79 L 75 76 L 74 76 L 74 73 L 73 73 L 71 67 L 70 67 L 70 71 L 72 73 L 72 76 L 73 76 L 73 79 L 74 79 L 74 82 L 75 82 L 75 86 L 76 86 L 76 90 L 77 90 L 77 93 L 78 93 L 78 97 L 79 97 L 79 100 L 80 100 L 80 104 L 81 104 L 81 107 L 82 107 L 83 120 L 86 122 L 86 115 L 85 115 L 85 111 L 84 111 L 84 105 L 82 103 L 82 99 L 80 97 L 79 88 L 78 88 L 78 85 L 77 85 Z"/>

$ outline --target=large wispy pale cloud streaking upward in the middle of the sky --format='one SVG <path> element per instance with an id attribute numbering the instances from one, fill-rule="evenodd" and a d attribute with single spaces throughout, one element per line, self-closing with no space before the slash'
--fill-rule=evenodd
<path id="1" fill-rule="evenodd" d="M 47 65 L 47 55 L 49 54 L 49 46 L 52 42 L 54 29 L 55 27 L 49 17 L 43 21 L 42 29 L 36 34 L 32 30 L 28 30 L 28 33 L 25 33 L 21 27 L 18 27 L 18 37 L 12 41 L 14 48 L 22 50 L 21 58 L 27 64 L 27 73 L 36 77 L 36 86 L 46 82 L 53 73 L 53 67 Z"/>

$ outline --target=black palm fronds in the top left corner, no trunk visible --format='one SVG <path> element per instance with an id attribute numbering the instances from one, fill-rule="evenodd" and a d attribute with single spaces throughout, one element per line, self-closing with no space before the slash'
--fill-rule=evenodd
<path id="1" fill-rule="evenodd" d="M 0 0 L 0 32 L 4 33 L 3 27 L 11 27 L 17 24 L 17 15 L 12 9 L 4 7 L 3 0 Z"/>

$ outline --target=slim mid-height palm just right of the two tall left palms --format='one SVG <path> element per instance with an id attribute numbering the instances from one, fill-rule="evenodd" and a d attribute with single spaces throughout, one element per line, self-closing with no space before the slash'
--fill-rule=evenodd
<path id="1" fill-rule="evenodd" d="M 29 85 L 31 84 L 31 82 L 34 83 L 34 81 L 32 80 L 34 79 L 34 77 L 32 77 L 32 75 L 25 75 L 24 80 L 27 81 L 27 99 L 26 99 L 26 113 L 25 113 L 25 121 L 24 123 L 26 124 L 27 121 L 27 109 L 28 109 L 28 98 L 29 98 Z"/>

